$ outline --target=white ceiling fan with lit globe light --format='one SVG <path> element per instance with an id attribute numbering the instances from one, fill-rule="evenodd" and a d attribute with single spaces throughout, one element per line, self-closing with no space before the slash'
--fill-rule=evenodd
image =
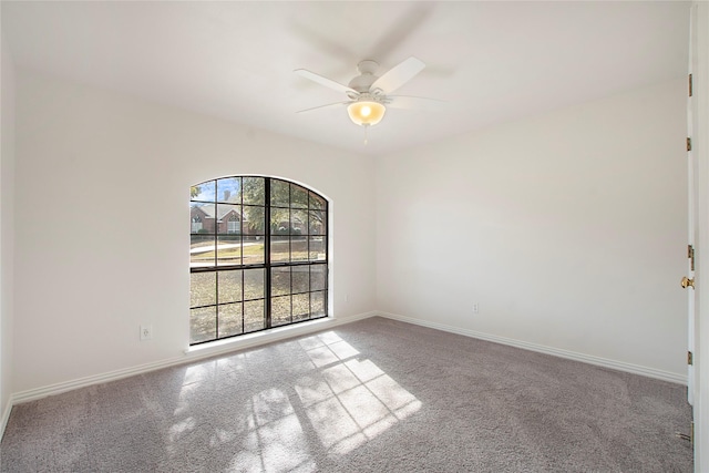
<path id="1" fill-rule="evenodd" d="M 320 85 L 325 85 L 326 88 L 342 92 L 349 99 L 343 102 L 329 103 L 326 105 L 315 106 L 312 109 L 301 110 L 298 113 L 328 106 L 347 105 L 347 113 L 354 124 L 366 127 L 376 125 L 384 117 L 387 106 L 391 106 L 393 109 L 417 109 L 420 107 L 422 102 L 439 102 L 434 99 L 390 95 L 397 89 L 413 79 L 424 68 L 425 64 L 423 61 L 414 56 L 410 56 L 383 74 L 377 75 L 379 70 L 377 61 L 364 60 L 357 64 L 359 75 L 352 79 L 348 85 L 343 85 L 337 81 L 316 74 L 307 69 L 297 69 L 294 71 L 296 74 L 317 82 Z"/>

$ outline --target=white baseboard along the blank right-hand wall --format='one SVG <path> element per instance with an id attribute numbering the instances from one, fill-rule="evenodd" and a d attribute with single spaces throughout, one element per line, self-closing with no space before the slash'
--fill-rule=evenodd
<path id="1" fill-rule="evenodd" d="M 511 347 L 522 348 L 525 350 L 537 351 L 540 353 L 552 354 L 554 357 L 566 358 L 569 360 L 582 361 L 584 363 L 595 364 L 598 367 L 610 368 L 618 371 L 625 371 L 634 374 L 640 374 L 648 378 L 655 378 L 662 381 L 669 381 L 677 384 L 687 385 L 687 376 L 671 373 L 669 371 L 657 370 L 654 368 L 641 367 L 638 364 L 626 363 L 624 361 L 609 360 L 607 358 L 595 357 L 593 354 L 578 353 L 576 351 L 563 350 L 559 348 L 546 347 L 537 343 L 530 343 L 522 340 L 515 340 L 505 337 L 483 333 L 474 330 L 467 330 L 460 327 L 445 326 L 442 323 L 430 322 L 428 320 L 414 319 L 411 317 L 400 316 L 397 313 L 378 312 L 380 317 L 399 320 L 402 322 L 414 323 L 436 330 L 443 330 L 451 333 L 458 333 L 465 337 L 479 338 L 481 340 L 493 341 L 495 343 L 508 345 Z"/>

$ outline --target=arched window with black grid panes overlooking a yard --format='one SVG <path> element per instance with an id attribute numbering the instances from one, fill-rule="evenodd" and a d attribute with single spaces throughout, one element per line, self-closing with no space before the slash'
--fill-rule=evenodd
<path id="1" fill-rule="evenodd" d="M 191 188 L 189 345 L 327 317 L 328 203 L 260 176 Z"/>

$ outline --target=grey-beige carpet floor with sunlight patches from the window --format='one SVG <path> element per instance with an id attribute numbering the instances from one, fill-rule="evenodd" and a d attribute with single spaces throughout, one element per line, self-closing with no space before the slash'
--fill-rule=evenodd
<path id="1" fill-rule="evenodd" d="M 382 318 L 17 405 L 3 472 L 691 472 L 686 388 Z"/>

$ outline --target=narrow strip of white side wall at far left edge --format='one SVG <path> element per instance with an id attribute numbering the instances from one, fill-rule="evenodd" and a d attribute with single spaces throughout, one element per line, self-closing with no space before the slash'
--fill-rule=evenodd
<path id="1" fill-rule="evenodd" d="M 14 66 L 7 42 L 0 40 L 0 436 L 10 414 L 12 394 Z"/>

